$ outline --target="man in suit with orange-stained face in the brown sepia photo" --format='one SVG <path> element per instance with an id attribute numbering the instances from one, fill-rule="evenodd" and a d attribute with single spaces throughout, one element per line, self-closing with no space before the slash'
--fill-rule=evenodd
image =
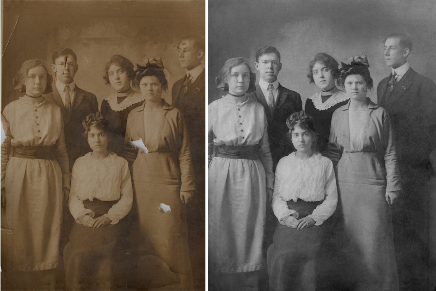
<path id="1" fill-rule="evenodd" d="M 45 97 L 61 107 L 71 171 L 76 159 L 91 151 L 86 138 L 82 136 L 85 131 L 82 121 L 88 114 L 98 111 L 98 103 L 94 94 L 80 89 L 74 82 L 78 65 L 72 49 L 62 48 L 55 51 L 52 60 L 55 86 L 53 92 Z"/>

